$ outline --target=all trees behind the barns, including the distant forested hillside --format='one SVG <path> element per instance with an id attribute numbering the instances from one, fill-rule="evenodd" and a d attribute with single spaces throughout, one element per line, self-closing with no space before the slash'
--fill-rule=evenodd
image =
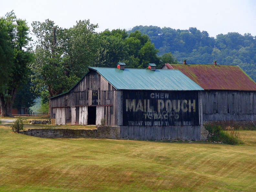
<path id="1" fill-rule="evenodd" d="M 256 80 L 256 39 L 251 34 L 219 34 L 207 31 L 136 26 L 132 30 L 106 29 L 95 32 L 97 24 L 80 20 L 73 27 L 59 27 L 49 19 L 26 20 L 12 11 L 0 18 L 0 105 L 1 115 L 11 109 L 29 107 L 41 97 L 42 109 L 48 110 L 48 97 L 69 90 L 88 71 L 88 66 L 146 68 L 155 63 L 239 65 Z M 33 42 L 29 33 L 36 37 Z M 177 60 L 175 59 L 177 58 Z"/>

